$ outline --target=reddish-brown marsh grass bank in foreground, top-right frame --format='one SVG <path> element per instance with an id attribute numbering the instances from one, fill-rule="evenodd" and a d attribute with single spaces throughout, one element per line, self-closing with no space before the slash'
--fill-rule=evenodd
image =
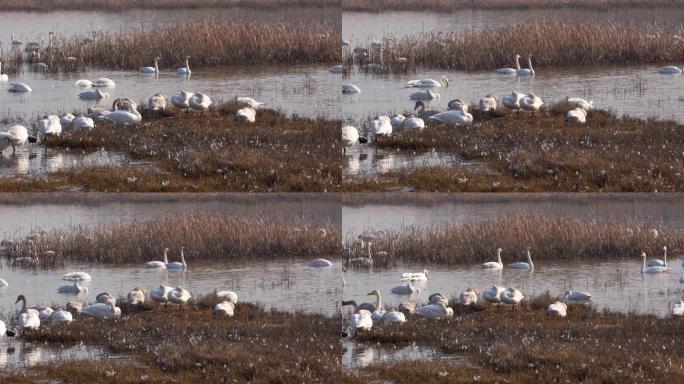
<path id="1" fill-rule="evenodd" d="M 529 114 L 480 113 L 471 127 L 433 125 L 383 137 L 377 148 L 445 151 L 486 165 L 486 171 L 436 167 L 392 171 L 375 179 L 345 178 L 345 190 L 469 192 L 681 192 L 682 125 L 618 118 L 592 110 L 583 125 L 565 122 L 565 103 Z"/>

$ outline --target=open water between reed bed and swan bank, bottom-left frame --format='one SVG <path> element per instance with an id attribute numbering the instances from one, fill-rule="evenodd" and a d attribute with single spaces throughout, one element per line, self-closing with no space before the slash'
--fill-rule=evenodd
<path id="1" fill-rule="evenodd" d="M 321 257 L 328 257 L 322 255 Z M 160 257 L 161 258 L 161 257 Z M 173 252 L 169 261 L 178 258 Z M 341 264 L 327 268 L 309 267 L 308 260 L 259 260 L 205 262 L 188 260 L 188 269 L 147 269 L 136 265 L 86 265 L 70 264 L 54 270 L 22 270 L 3 268 L 0 277 L 9 286 L 0 290 L 0 313 L 5 315 L 15 309 L 17 296 L 23 294 L 29 306 L 61 305 L 73 300 L 94 302 L 101 292 L 115 297 L 126 294 L 135 287 L 149 291 L 160 284 L 182 286 L 195 297 L 218 290 L 236 292 L 240 301 L 261 303 L 267 309 L 305 311 L 332 315 L 342 291 Z M 81 285 L 88 292 L 74 295 L 57 293 L 57 288 L 73 284 L 63 281 L 67 272 L 88 272 L 93 280 Z M 149 299 L 149 297 L 148 297 Z M 177 308 L 174 308 L 177 310 Z"/>

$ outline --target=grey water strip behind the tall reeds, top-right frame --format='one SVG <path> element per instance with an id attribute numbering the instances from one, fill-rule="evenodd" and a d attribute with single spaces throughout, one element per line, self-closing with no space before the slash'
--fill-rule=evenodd
<path id="1" fill-rule="evenodd" d="M 520 10 L 463 10 L 453 13 L 434 12 L 366 12 L 342 13 L 342 36 L 352 42 L 365 43 L 369 37 L 382 39 L 392 36 L 429 32 L 432 30 L 463 31 L 468 29 L 500 28 L 507 25 L 539 20 L 596 22 L 605 24 L 657 23 L 666 27 L 680 27 L 684 20 L 682 9 L 615 9 L 610 11 L 585 9 L 520 9 Z M 365 44 L 364 44 L 365 45 Z"/>

